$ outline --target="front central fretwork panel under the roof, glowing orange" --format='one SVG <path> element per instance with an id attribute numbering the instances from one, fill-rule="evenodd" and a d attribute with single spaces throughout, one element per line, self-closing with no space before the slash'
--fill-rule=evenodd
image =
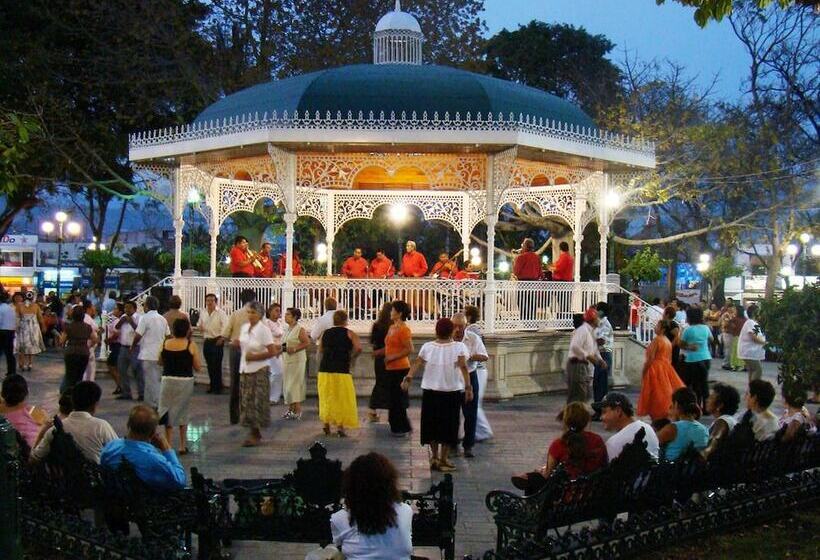
<path id="1" fill-rule="evenodd" d="M 484 187 L 485 156 L 476 154 L 349 153 L 298 155 L 297 185 L 320 189 L 352 189 L 356 176 L 377 167 L 392 176 L 399 169 L 421 171 L 432 189 Z"/>

